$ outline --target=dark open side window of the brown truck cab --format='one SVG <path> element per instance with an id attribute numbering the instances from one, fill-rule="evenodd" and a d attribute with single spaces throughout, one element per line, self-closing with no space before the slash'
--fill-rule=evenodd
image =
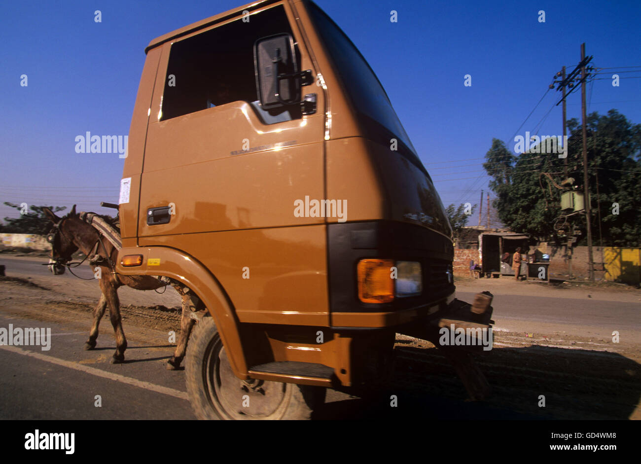
<path id="1" fill-rule="evenodd" d="M 238 19 L 172 44 L 161 120 L 233 101 L 252 104 L 265 124 L 297 116 L 283 109 L 266 114 L 257 103 L 254 42 L 278 33 L 292 34 L 285 8 L 275 6 L 249 15 L 248 19 L 246 22 Z"/>

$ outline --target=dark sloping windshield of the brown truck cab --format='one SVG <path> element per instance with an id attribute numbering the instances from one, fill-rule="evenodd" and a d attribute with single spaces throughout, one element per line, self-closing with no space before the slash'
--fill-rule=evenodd
<path id="1" fill-rule="evenodd" d="M 363 122 L 374 122 L 387 129 L 411 152 L 412 162 L 418 163 L 420 169 L 424 170 L 410 138 L 392 108 L 390 99 L 365 58 L 328 15 L 311 1 L 308 6 L 310 17 L 324 42 L 326 52 L 333 60 L 346 93 L 352 100 L 354 108 L 360 113 Z"/>

